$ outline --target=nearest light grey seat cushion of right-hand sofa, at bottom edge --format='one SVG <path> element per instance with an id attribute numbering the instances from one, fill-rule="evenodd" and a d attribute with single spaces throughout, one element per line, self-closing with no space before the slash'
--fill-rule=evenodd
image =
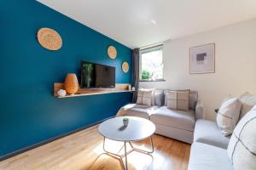
<path id="1" fill-rule="evenodd" d="M 189 170 L 230 170 L 233 169 L 227 150 L 195 142 L 191 146 Z"/>

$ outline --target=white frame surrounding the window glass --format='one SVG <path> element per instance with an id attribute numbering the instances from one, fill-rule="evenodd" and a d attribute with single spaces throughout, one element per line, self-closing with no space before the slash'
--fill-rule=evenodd
<path id="1" fill-rule="evenodd" d="M 164 45 L 160 44 L 160 45 L 157 45 L 157 46 L 153 46 L 153 47 L 150 47 L 150 48 L 142 48 L 142 49 L 139 50 L 139 82 L 165 82 L 166 81 L 165 76 L 164 76 L 163 48 L 164 48 Z M 163 63 L 163 68 L 162 68 L 163 72 L 162 72 L 162 74 L 163 74 L 163 77 L 155 79 L 155 80 L 143 80 L 142 79 L 142 54 L 143 53 L 149 53 L 149 52 L 152 52 L 152 51 L 157 51 L 157 50 L 162 51 L 162 63 Z"/>

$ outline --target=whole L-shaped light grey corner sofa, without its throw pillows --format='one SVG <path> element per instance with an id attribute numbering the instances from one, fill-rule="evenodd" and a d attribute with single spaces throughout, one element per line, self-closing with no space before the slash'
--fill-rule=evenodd
<path id="1" fill-rule="evenodd" d="M 155 105 L 130 104 L 120 109 L 118 116 L 140 116 L 154 122 L 156 132 L 191 145 L 189 170 L 231 170 L 227 156 L 230 137 L 224 137 L 216 122 L 204 120 L 204 107 L 197 92 L 189 94 L 189 111 L 166 108 L 165 93 L 157 90 Z"/>

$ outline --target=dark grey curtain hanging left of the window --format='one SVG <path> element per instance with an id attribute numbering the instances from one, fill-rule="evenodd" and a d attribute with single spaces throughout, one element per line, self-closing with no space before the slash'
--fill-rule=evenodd
<path id="1" fill-rule="evenodd" d="M 132 103 L 137 101 L 137 88 L 139 83 L 139 48 L 132 51 L 132 87 L 135 87 L 136 92 L 133 93 Z"/>

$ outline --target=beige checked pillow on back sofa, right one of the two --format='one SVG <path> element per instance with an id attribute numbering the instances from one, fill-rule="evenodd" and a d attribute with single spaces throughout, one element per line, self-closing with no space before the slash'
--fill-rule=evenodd
<path id="1" fill-rule="evenodd" d="M 168 91 L 167 108 L 189 111 L 189 90 Z"/>

